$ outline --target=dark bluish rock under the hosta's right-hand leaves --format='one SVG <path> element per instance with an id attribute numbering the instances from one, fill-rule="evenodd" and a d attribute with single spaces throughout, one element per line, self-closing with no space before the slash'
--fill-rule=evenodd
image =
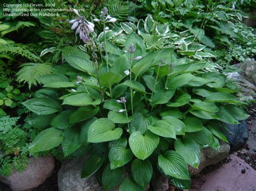
<path id="1" fill-rule="evenodd" d="M 228 142 L 230 142 L 231 150 L 237 151 L 244 145 L 248 139 L 248 124 L 246 120 L 240 121 L 240 124 L 227 124 L 225 123 L 228 131 L 232 134 L 224 132 Z"/>

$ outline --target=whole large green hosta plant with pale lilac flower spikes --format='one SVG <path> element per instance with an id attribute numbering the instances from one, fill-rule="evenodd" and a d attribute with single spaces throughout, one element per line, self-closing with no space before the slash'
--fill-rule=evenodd
<path id="1" fill-rule="evenodd" d="M 59 145 L 66 158 L 89 152 L 81 177 L 96 174 L 106 190 L 144 190 L 160 174 L 190 188 L 188 165 L 198 167 L 200 148 L 218 150 L 219 140 L 227 142 L 223 122 L 248 117 L 224 87 L 226 76 L 173 47 L 146 47 L 134 32 L 111 43 L 107 31 L 117 19 L 106 8 L 94 20 L 103 25 L 98 37 L 95 24 L 76 14 L 70 23 L 85 45 L 65 47 L 65 63 L 39 77 L 44 88 L 23 103 L 48 126 L 31 152 Z"/>

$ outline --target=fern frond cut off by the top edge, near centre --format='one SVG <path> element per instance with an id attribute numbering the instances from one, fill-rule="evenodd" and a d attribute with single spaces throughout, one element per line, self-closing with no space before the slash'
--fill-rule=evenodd
<path id="1" fill-rule="evenodd" d="M 118 20 L 125 20 L 129 15 L 134 5 L 131 2 L 122 1 L 108 1 L 107 9 L 111 17 L 115 17 Z"/>

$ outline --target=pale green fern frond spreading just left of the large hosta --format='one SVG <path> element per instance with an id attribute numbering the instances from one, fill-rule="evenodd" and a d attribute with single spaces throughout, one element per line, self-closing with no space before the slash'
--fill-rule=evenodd
<path id="1" fill-rule="evenodd" d="M 16 74 L 18 82 L 28 83 L 29 89 L 31 86 L 36 86 L 40 82 L 38 77 L 50 74 L 52 71 L 51 63 L 23 63 L 22 69 Z"/>

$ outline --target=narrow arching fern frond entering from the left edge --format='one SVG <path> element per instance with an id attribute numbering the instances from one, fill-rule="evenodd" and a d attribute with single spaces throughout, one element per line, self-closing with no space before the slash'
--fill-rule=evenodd
<path id="1" fill-rule="evenodd" d="M 0 53 L 13 54 L 13 55 L 21 55 L 24 58 L 27 58 L 31 61 L 38 62 L 41 61 L 39 56 L 30 52 L 28 47 L 25 45 L 17 46 L 10 44 L 0 44 Z"/>

